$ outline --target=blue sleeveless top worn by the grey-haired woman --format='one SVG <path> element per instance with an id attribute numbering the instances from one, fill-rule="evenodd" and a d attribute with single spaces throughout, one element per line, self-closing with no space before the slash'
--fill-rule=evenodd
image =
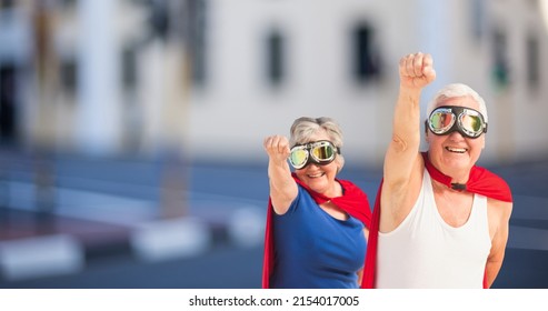
<path id="1" fill-rule="evenodd" d="M 338 220 L 299 185 L 289 210 L 273 217 L 272 288 L 359 288 L 367 241 L 363 224 Z"/>

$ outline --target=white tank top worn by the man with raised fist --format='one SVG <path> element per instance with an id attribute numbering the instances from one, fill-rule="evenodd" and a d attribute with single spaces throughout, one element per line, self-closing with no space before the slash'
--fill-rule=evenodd
<path id="1" fill-rule="evenodd" d="M 438 212 L 425 169 L 419 198 L 407 218 L 391 232 L 379 232 L 376 287 L 482 288 L 490 248 L 487 198 L 475 194 L 468 221 L 451 227 Z"/>

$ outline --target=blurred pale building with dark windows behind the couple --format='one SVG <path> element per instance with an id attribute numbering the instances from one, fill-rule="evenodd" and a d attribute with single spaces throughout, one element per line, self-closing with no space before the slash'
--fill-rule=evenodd
<path id="1" fill-rule="evenodd" d="M 0 137 L 83 154 L 262 161 L 262 139 L 330 116 L 379 165 L 398 61 L 488 103 L 484 159 L 548 156 L 541 0 L 0 0 Z"/>

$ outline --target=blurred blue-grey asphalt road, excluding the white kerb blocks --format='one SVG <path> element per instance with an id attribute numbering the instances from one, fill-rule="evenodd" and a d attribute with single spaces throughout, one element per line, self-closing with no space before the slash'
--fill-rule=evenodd
<path id="1" fill-rule="evenodd" d="M 12 167 L 18 168 L 18 165 Z M 9 185 L 11 188 L 8 187 L 11 195 L 16 190 L 24 191 L 24 182 L 30 182 L 28 172 L 19 168 L 14 173 L 4 173 L 4 182 L 11 184 Z M 515 198 L 506 259 L 494 288 L 547 289 L 548 161 L 490 169 L 508 181 Z M 1 227 L 13 229 L 32 224 L 38 232 L 39 230 L 36 229 L 40 228 L 40 223 L 57 223 L 54 225 L 57 229 L 76 230 L 76 227 L 81 233 L 86 225 L 108 223 L 109 227 L 104 227 L 101 232 L 110 232 L 110 234 L 102 234 L 99 239 L 98 231 L 87 231 L 97 239 L 88 237 L 87 245 L 92 248 L 86 251 L 86 264 L 78 272 L 26 280 L 0 278 L 0 288 L 260 288 L 262 245 L 233 243 L 227 235 L 222 221 L 241 207 L 255 209 L 261 215 L 268 193 L 266 164 L 195 163 L 188 168 L 190 181 L 186 200 L 190 202 L 191 213 L 210 220 L 209 223 L 215 229 L 212 242 L 199 255 L 159 261 L 143 261 L 136 258 L 128 245 L 124 229 L 130 228 L 128 220 L 142 220 L 155 214 L 150 210 L 158 208 L 153 203 L 158 202 L 160 197 L 158 173 L 161 171 L 161 165 L 131 161 L 120 163 L 93 160 L 83 163 L 80 160 L 66 160 L 56 162 L 54 170 L 58 172 L 56 185 L 66 191 L 63 192 L 66 197 L 58 195 L 63 199 L 57 201 L 60 205 L 57 212 L 54 214 L 47 212 L 46 217 L 43 214 L 37 217 L 32 208 L 10 205 L 13 202 L 19 202 L 21 205 L 30 204 L 28 201 L 3 198 L 4 207 L 0 209 Z M 359 184 L 369 194 L 371 204 L 379 177 L 378 170 L 350 167 L 347 167 L 340 175 Z M 24 192 L 20 193 L 24 194 Z M 93 197 L 90 193 L 96 194 Z M 97 193 L 102 197 L 98 197 Z M 98 204 L 108 205 L 107 217 L 119 221 L 112 219 L 109 222 L 102 221 L 106 212 L 101 209 L 93 209 L 97 214 L 90 213 L 89 205 L 96 208 Z M 61 222 L 63 224 L 60 224 Z M 70 223 L 77 224 L 71 227 Z M 13 232 L 14 230 L 11 230 L 10 234 Z M 3 234 L 6 238 L 7 233 Z M 84 238 L 84 234 L 80 237 Z"/>

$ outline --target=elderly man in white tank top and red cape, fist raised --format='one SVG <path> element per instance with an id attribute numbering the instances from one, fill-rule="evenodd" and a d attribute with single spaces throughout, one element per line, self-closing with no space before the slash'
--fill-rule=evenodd
<path id="1" fill-rule="evenodd" d="M 399 63 L 400 90 L 365 271 L 369 288 L 489 288 L 505 257 L 512 209 L 507 183 L 476 165 L 487 109 L 471 88 L 441 89 L 426 116 L 420 93 L 436 79 L 430 54 Z"/>

